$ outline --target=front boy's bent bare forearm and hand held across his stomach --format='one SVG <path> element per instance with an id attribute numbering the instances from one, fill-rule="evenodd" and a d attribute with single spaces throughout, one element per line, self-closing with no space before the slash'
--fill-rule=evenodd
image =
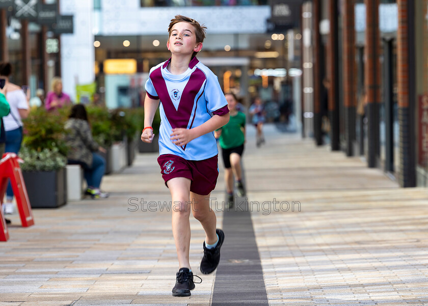
<path id="1" fill-rule="evenodd" d="M 214 115 L 208 121 L 190 130 L 185 128 L 174 128 L 172 129 L 171 140 L 177 146 L 184 146 L 199 136 L 221 128 L 229 122 L 229 117 L 229 113 L 223 116 Z"/>

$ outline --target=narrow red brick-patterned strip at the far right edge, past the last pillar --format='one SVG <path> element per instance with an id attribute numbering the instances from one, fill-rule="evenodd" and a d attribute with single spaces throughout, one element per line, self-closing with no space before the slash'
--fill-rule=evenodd
<path id="1" fill-rule="evenodd" d="M 419 158 L 418 163 L 424 168 L 428 166 L 428 95 L 419 96 Z"/>

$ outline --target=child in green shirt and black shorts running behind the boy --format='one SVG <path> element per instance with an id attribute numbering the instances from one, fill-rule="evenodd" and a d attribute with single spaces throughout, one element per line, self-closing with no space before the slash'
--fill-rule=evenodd
<path id="1" fill-rule="evenodd" d="M 222 148 L 225 168 L 227 207 L 230 208 L 233 205 L 233 176 L 236 179 L 235 186 L 238 197 L 245 195 L 240 166 L 245 143 L 245 114 L 236 109 L 238 101 L 235 94 L 227 93 L 225 97 L 230 112 L 230 120 L 225 126 L 216 131 L 216 138 L 220 137 L 220 147 Z"/>

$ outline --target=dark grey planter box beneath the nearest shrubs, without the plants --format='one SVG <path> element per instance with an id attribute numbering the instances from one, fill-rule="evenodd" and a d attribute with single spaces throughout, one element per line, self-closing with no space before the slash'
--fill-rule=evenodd
<path id="1" fill-rule="evenodd" d="M 22 172 L 32 208 L 57 208 L 67 203 L 65 169 Z"/>

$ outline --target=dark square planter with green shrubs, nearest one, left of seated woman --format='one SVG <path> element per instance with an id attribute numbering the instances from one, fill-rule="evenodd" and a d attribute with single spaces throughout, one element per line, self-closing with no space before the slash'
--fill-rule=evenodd
<path id="1" fill-rule="evenodd" d="M 19 156 L 24 160 L 22 176 L 33 208 L 59 207 L 67 201 L 64 122 L 68 113 L 69 108 L 52 113 L 39 107 L 23 120 Z"/>

